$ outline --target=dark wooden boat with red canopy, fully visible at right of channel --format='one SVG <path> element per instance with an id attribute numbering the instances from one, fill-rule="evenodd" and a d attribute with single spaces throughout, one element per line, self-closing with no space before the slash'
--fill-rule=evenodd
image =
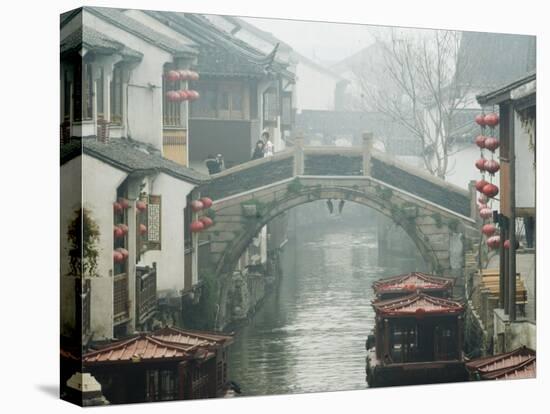
<path id="1" fill-rule="evenodd" d="M 371 387 L 465 381 L 464 306 L 422 292 L 374 300 L 374 335 L 367 340 Z"/>

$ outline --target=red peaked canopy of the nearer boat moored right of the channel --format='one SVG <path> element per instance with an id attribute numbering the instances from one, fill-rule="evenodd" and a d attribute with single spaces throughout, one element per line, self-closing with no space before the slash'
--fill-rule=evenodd
<path id="1" fill-rule="evenodd" d="M 424 293 L 373 302 L 372 306 L 377 315 L 384 317 L 393 316 L 424 316 L 458 315 L 464 312 L 464 306 L 459 302 L 448 299 L 436 298 Z"/>

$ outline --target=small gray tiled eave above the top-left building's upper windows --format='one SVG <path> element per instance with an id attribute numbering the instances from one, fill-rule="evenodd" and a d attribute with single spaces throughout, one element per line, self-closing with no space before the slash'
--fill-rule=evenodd
<path id="1" fill-rule="evenodd" d="M 123 43 L 87 26 L 83 26 L 82 30 L 75 30 L 61 41 L 61 53 L 79 51 L 82 46 L 92 50 L 120 53 L 134 59 L 141 59 L 143 57 L 141 52 L 131 49 Z"/>

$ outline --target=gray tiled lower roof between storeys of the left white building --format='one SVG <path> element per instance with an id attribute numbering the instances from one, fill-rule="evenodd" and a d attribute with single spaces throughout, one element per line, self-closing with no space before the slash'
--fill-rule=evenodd
<path id="1" fill-rule="evenodd" d="M 194 184 L 209 180 L 208 176 L 163 158 L 158 151 L 129 139 L 111 139 L 108 143 L 99 142 L 95 137 L 74 140 L 61 146 L 61 164 L 81 153 L 128 173 L 156 170 Z"/>

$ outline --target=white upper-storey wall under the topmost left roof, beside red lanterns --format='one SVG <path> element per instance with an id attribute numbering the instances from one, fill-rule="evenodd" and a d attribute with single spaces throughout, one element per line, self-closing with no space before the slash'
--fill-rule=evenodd
<path id="1" fill-rule="evenodd" d="M 126 134 L 162 151 L 162 73 L 163 65 L 173 60 L 172 55 L 87 11 L 84 11 L 83 22 L 143 53 L 143 60 L 131 70 L 130 86 L 124 88 L 128 95 Z M 106 75 L 111 76 L 110 73 Z"/>

